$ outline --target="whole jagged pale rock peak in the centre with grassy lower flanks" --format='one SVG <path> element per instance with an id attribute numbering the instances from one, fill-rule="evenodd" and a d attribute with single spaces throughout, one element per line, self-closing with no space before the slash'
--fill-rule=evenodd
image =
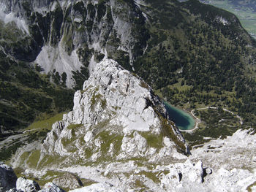
<path id="1" fill-rule="evenodd" d="M 177 149 L 187 153 L 164 104 L 146 82 L 106 59 L 75 93 L 72 112 L 53 124 L 40 161 L 57 155 L 64 164 L 127 158 L 155 162 L 159 157 L 176 158 Z"/>

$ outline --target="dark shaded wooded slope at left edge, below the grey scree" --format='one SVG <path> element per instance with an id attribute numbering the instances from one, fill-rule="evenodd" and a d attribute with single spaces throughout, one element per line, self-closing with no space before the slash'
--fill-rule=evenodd
<path id="1" fill-rule="evenodd" d="M 72 108 L 74 91 L 50 83 L 34 66 L 15 61 L 0 51 L 0 125 L 19 131 L 35 118 L 47 118 Z"/>

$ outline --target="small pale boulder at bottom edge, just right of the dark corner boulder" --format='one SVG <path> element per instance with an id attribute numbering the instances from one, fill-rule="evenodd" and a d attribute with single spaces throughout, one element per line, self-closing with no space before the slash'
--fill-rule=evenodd
<path id="1" fill-rule="evenodd" d="M 20 190 L 23 192 L 37 192 L 41 189 L 37 182 L 34 180 L 27 180 L 23 177 L 18 178 L 16 188 L 18 191 Z"/>

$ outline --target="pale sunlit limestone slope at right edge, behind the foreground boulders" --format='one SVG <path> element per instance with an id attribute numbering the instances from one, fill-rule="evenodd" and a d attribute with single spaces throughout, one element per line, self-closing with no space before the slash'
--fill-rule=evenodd
<path id="1" fill-rule="evenodd" d="M 203 161 L 214 170 L 255 169 L 256 135 L 250 130 L 238 130 L 225 139 L 213 139 L 203 147 L 192 149 L 191 161 Z"/>

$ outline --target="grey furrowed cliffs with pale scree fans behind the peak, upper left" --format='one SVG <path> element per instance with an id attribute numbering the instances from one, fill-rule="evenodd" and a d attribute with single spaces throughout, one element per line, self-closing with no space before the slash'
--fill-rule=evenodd
<path id="1" fill-rule="evenodd" d="M 28 44 L 18 50 L 3 46 L 6 52 L 23 61 L 36 60 L 45 73 L 65 72 L 69 87 L 74 85 L 72 71 L 83 68 L 87 78 L 86 67 L 108 56 L 128 56 L 132 64 L 146 47 L 146 19 L 132 1 L 1 0 L 0 7 L 0 19 L 14 21 L 27 38 L 20 45 Z"/>

